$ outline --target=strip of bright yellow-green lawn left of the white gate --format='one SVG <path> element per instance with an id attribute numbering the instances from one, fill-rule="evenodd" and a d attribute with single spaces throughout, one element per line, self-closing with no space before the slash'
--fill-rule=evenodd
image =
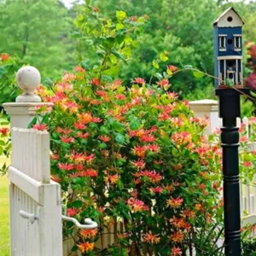
<path id="1" fill-rule="evenodd" d="M 9 256 L 9 195 L 7 177 L 0 177 L 0 216 L 0 255 Z"/>

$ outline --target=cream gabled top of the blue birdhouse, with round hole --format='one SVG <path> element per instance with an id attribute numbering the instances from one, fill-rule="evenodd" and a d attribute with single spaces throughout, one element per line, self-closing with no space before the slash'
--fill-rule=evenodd
<path id="1" fill-rule="evenodd" d="M 229 17 L 232 18 L 231 21 L 227 20 Z M 226 9 L 217 20 L 214 21 L 213 26 L 242 26 L 243 24 L 244 21 L 241 19 L 241 16 L 238 15 L 236 9 L 230 7 L 229 9 Z"/>

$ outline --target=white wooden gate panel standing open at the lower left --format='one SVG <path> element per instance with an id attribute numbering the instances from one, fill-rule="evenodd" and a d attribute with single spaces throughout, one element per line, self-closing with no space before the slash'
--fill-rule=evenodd
<path id="1" fill-rule="evenodd" d="M 12 256 L 62 256 L 61 187 L 50 180 L 49 134 L 13 128 L 9 167 Z"/>

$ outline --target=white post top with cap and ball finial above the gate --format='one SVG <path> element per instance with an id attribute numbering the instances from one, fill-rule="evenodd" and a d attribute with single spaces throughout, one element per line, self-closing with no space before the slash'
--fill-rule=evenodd
<path id="1" fill-rule="evenodd" d="M 40 80 L 41 75 L 35 67 L 21 67 L 17 72 L 17 85 L 23 90 L 23 94 L 16 98 L 16 102 L 3 104 L 4 110 L 10 115 L 11 128 L 27 128 L 39 106 L 52 106 L 52 103 L 41 102 L 40 97 L 34 94 Z"/>

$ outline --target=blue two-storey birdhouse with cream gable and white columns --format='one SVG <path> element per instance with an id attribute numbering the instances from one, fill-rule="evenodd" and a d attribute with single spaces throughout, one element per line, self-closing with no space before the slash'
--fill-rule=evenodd
<path id="1" fill-rule="evenodd" d="M 214 76 L 215 88 L 242 84 L 242 38 L 244 22 L 232 7 L 214 21 Z M 217 79 L 218 78 L 218 79 Z"/>

